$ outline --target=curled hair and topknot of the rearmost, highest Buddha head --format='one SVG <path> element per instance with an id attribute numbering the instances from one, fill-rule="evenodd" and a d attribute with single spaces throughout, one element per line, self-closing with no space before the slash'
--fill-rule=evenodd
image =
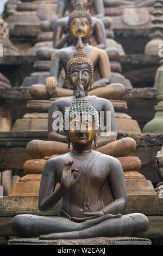
<path id="1" fill-rule="evenodd" d="M 88 11 L 86 11 L 83 4 L 81 4 L 80 1 L 79 1 L 79 3 L 77 4 L 77 7 L 73 10 L 73 12 L 68 17 L 68 23 L 67 23 L 68 30 L 70 31 L 70 25 L 71 25 L 71 21 L 73 19 L 75 19 L 75 18 L 84 18 L 84 17 L 89 20 L 90 29 L 92 29 L 93 28 L 93 23 L 92 23 L 91 14 Z"/>

